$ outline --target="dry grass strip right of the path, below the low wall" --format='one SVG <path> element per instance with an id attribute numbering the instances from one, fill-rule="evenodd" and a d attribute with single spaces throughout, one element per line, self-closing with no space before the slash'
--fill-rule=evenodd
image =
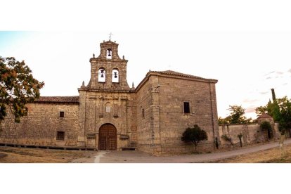
<path id="1" fill-rule="evenodd" d="M 285 154 L 280 156 L 279 148 L 271 150 L 259 151 L 257 153 L 250 153 L 239 155 L 224 160 L 216 161 L 218 163 L 291 163 L 291 145 L 284 148 Z"/>

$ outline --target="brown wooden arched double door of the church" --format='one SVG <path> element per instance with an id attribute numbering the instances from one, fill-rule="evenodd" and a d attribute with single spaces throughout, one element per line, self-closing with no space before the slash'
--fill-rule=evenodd
<path id="1" fill-rule="evenodd" d="M 99 150 L 117 150 L 117 129 L 113 124 L 103 124 L 99 129 Z"/>

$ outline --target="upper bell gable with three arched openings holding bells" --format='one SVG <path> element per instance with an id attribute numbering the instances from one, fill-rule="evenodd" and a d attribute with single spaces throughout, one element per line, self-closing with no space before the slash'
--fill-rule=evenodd
<path id="1" fill-rule="evenodd" d="M 103 91 L 129 91 L 127 84 L 127 62 L 119 58 L 118 44 L 103 41 L 100 55 L 90 59 L 91 79 L 87 87 Z"/>

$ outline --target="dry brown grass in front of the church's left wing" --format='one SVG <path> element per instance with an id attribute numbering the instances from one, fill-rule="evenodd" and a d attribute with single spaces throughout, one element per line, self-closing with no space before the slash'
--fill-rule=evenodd
<path id="1" fill-rule="evenodd" d="M 96 151 L 0 147 L 0 163 L 67 163 L 96 155 Z"/>

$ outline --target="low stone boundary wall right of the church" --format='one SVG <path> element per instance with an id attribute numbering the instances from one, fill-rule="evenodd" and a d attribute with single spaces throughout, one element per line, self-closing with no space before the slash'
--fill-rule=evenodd
<path id="1" fill-rule="evenodd" d="M 273 128 L 273 138 L 270 141 L 276 140 L 280 137 L 279 124 L 271 124 Z M 261 131 L 259 124 L 224 124 L 219 126 L 219 141 L 221 148 L 228 148 L 231 146 L 240 146 L 240 138 L 238 135 L 242 134 L 243 145 L 250 145 L 254 143 L 261 143 L 268 141 L 268 132 Z M 221 136 L 228 136 L 231 138 L 231 142 L 224 140 Z"/>

